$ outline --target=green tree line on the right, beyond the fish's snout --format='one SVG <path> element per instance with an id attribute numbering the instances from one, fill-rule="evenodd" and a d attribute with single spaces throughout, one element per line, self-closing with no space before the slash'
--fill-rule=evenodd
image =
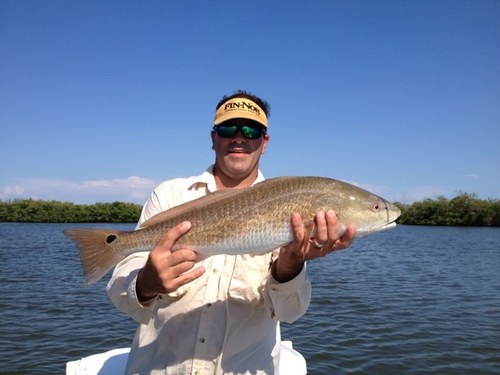
<path id="1" fill-rule="evenodd" d="M 460 193 L 447 199 L 425 199 L 413 204 L 396 203 L 401 208 L 399 224 L 445 226 L 500 226 L 500 201 L 482 200 L 476 195 Z"/>

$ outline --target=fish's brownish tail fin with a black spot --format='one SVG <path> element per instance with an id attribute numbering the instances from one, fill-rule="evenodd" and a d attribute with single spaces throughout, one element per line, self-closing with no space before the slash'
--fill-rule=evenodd
<path id="1" fill-rule="evenodd" d="M 72 239 L 80 251 L 85 284 L 90 285 L 102 278 L 123 259 L 111 243 L 121 231 L 105 229 L 67 229 L 64 234 Z"/>

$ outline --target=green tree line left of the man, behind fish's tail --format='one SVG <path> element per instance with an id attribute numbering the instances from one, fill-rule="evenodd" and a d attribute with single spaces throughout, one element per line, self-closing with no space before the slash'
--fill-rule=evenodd
<path id="1" fill-rule="evenodd" d="M 25 223 L 136 223 L 142 206 L 113 202 L 91 205 L 16 199 L 0 201 L 0 222 Z"/>

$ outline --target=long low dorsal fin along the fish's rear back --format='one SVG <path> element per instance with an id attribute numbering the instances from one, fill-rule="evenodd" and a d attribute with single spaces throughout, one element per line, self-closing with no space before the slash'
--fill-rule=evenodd
<path id="1" fill-rule="evenodd" d="M 207 194 L 201 198 L 194 199 L 192 201 L 180 204 L 178 206 L 172 207 L 166 211 L 160 212 L 155 216 L 149 218 L 144 223 L 141 224 L 140 229 L 144 229 L 155 224 L 161 223 L 166 220 L 170 220 L 176 216 L 182 215 L 187 211 L 192 210 L 195 207 L 207 206 L 209 204 L 214 204 L 220 202 L 221 200 L 231 197 L 236 194 L 240 194 L 246 188 L 234 188 L 234 189 L 222 189 L 217 190 L 213 193 Z"/>

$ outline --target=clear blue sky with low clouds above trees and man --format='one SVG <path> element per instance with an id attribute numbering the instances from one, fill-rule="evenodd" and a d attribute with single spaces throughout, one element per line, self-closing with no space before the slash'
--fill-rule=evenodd
<path id="1" fill-rule="evenodd" d="M 500 2 L 0 2 L 0 200 L 143 203 L 268 100 L 266 177 L 500 198 Z"/>

